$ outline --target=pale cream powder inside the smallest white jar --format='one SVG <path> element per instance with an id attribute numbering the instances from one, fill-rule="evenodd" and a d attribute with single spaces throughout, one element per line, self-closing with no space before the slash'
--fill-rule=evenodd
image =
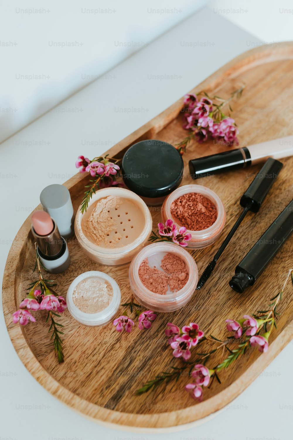
<path id="1" fill-rule="evenodd" d="M 112 297 L 111 284 L 101 278 L 83 279 L 78 283 L 72 294 L 76 307 L 85 313 L 101 312 L 109 306 Z"/>

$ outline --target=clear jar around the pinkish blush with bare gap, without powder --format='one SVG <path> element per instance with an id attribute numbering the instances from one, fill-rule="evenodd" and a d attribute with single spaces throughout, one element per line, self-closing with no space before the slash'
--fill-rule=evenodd
<path id="1" fill-rule="evenodd" d="M 159 268 L 160 261 L 166 253 L 174 253 L 184 261 L 188 271 L 188 281 L 181 290 L 161 295 L 148 290 L 138 275 L 139 267 L 145 258 L 150 266 Z M 129 282 L 134 297 L 146 308 L 155 312 L 173 312 L 192 298 L 198 281 L 198 270 L 195 260 L 189 252 L 174 243 L 153 243 L 142 249 L 132 260 L 129 268 Z"/>

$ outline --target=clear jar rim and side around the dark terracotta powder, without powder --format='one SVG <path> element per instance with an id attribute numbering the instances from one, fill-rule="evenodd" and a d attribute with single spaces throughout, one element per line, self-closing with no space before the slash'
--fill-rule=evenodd
<path id="1" fill-rule="evenodd" d="M 166 223 L 166 220 L 171 219 L 178 227 L 180 227 L 180 225 L 177 224 L 176 220 L 171 215 L 171 204 L 183 194 L 190 193 L 203 194 L 203 196 L 210 199 L 217 208 L 217 219 L 210 227 L 207 227 L 202 231 L 187 230 L 192 237 L 191 240 L 188 241 L 187 247 L 189 249 L 203 249 L 207 246 L 210 246 L 217 240 L 217 238 L 221 235 L 226 222 L 226 211 L 224 205 L 220 197 L 215 192 L 209 188 L 203 187 L 202 185 L 184 185 L 179 187 L 177 190 L 173 191 L 173 193 L 170 194 L 163 203 L 162 218 L 164 223 Z"/>

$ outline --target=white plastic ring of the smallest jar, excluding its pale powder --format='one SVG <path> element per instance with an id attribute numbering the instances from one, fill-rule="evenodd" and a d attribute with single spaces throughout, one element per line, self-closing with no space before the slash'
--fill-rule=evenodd
<path id="1" fill-rule="evenodd" d="M 76 289 L 76 286 L 80 284 L 83 280 L 92 280 L 97 279 L 99 281 L 105 281 L 110 284 L 112 287 L 113 295 L 109 305 L 101 310 L 98 313 L 86 313 L 82 312 L 73 301 L 73 292 Z M 116 281 L 111 278 L 109 275 L 99 272 L 99 271 L 89 271 L 80 274 L 76 277 L 72 283 L 70 284 L 67 291 L 67 308 L 69 313 L 73 316 L 76 321 L 85 325 L 85 326 L 104 326 L 109 323 L 112 319 L 115 318 L 116 313 L 118 312 L 119 305 L 121 302 L 121 293 L 118 284 Z"/>

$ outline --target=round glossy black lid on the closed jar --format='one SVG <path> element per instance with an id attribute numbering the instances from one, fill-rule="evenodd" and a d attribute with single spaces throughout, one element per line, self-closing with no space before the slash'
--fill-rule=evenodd
<path id="1" fill-rule="evenodd" d="M 176 148 L 160 140 L 143 140 L 130 147 L 122 160 L 123 181 L 142 197 L 161 197 L 177 188 L 183 160 Z"/>

